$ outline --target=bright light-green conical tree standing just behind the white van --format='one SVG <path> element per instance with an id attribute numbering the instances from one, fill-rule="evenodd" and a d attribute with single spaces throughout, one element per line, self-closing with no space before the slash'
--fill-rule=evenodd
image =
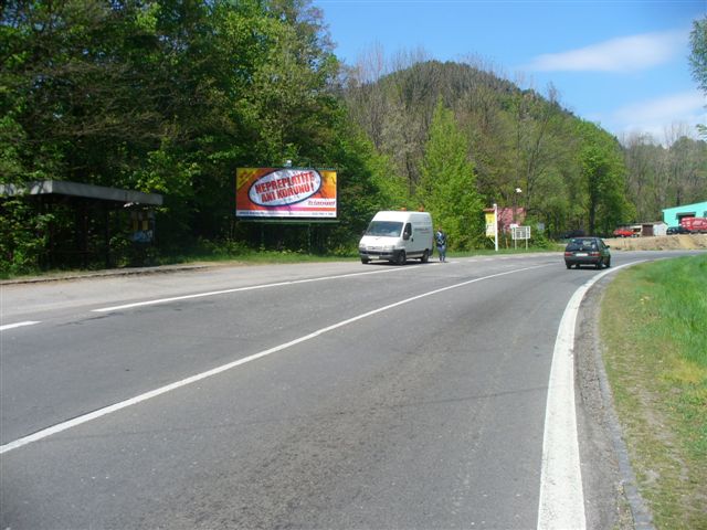
<path id="1" fill-rule="evenodd" d="M 468 159 L 468 141 L 442 98 L 434 109 L 420 173 L 418 201 L 444 227 L 450 246 L 466 250 L 482 241 L 483 208 Z"/>

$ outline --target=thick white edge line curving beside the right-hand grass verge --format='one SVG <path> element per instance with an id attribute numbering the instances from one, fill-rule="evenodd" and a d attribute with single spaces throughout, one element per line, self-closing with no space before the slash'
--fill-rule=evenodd
<path id="1" fill-rule="evenodd" d="M 552 353 L 542 438 L 538 530 L 584 530 L 584 494 L 574 409 L 574 327 L 587 292 L 605 275 L 593 276 L 574 292 L 564 309 Z"/>

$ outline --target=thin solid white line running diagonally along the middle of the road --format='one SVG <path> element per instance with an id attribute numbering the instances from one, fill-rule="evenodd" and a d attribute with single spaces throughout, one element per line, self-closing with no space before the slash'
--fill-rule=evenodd
<path id="1" fill-rule="evenodd" d="M 291 348 L 293 346 L 299 344 L 299 343 L 305 342 L 307 340 L 317 338 L 317 337 L 319 337 L 319 336 L 321 336 L 324 333 L 328 333 L 329 331 L 333 331 L 335 329 L 341 328 L 344 326 L 348 326 L 349 324 L 354 324 L 354 322 L 356 322 L 358 320 L 361 320 L 363 318 L 368 318 L 368 317 L 371 317 L 373 315 L 378 315 L 379 312 L 383 312 L 383 311 L 387 311 L 389 309 L 393 309 L 393 308 L 402 306 L 404 304 L 410 304 L 411 301 L 415 301 L 415 300 L 419 300 L 421 298 L 426 298 L 428 296 L 432 296 L 432 295 L 436 295 L 439 293 L 444 293 L 446 290 L 464 287 L 466 285 L 475 284 L 477 282 L 484 282 L 486 279 L 498 278 L 500 276 L 507 276 L 509 274 L 523 273 L 525 271 L 531 271 L 531 269 L 535 269 L 535 268 L 541 268 L 541 267 L 547 267 L 547 266 L 548 266 L 548 264 L 535 265 L 532 267 L 524 267 L 524 268 L 517 268 L 517 269 L 514 269 L 514 271 L 507 271 L 505 273 L 492 274 L 492 275 L 488 275 L 488 276 L 483 276 L 481 278 L 469 279 L 467 282 L 462 282 L 460 284 L 454 284 L 454 285 L 450 285 L 447 287 L 442 287 L 440 289 L 430 290 L 428 293 L 423 293 L 421 295 L 413 296 L 411 298 L 405 298 L 404 300 L 400 300 L 400 301 L 397 301 L 394 304 L 390 304 L 388 306 L 379 307 L 378 309 L 373 309 L 371 311 L 363 312 L 363 314 L 358 315 L 356 317 L 351 317 L 351 318 L 348 318 L 346 320 L 341 320 L 340 322 L 334 324 L 331 326 L 327 326 L 326 328 L 318 329 L 318 330 L 316 330 L 316 331 L 314 331 L 314 332 L 312 332 L 309 335 L 305 335 L 303 337 L 299 337 L 298 339 L 291 340 L 289 342 L 285 342 L 283 344 L 275 346 L 274 348 L 270 348 L 270 349 L 261 351 L 258 353 L 254 353 L 252 356 L 244 357 L 243 359 L 239 359 L 238 361 L 233 361 L 233 362 L 229 362 L 226 364 L 222 364 L 221 367 L 217 367 L 217 368 L 214 368 L 212 370 L 208 370 L 205 372 L 198 373 L 198 374 L 192 375 L 190 378 L 182 379 L 181 381 L 177 381 L 175 383 L 161 386 L 161 388 L 152 390 L 150 392 L 146 392 L 146 393 L 137 395 L 135 398 L 130 398 L 129 400 L 125 400 L 125 401 L 122 401 L 119 403 L 115 403 L 113 405 L 108 405 L 108 406 L 105 406 L 103 409 L 98 409 L 97 411 L 91 412 L 88 414 L 84 414 L 82 416 L 74 417 L 73 420 L 68 420 L 66 422 L 59 423 L 56 425 L 53 425 L 53 426 L 48 427 L 48 428 L 44 428 L 42 431 L 38 431 L 36 433 L 30 434 L 30 435 L 24 436 L 22 438 L 18 438 L 18 439 L 15 439 L 13 442 L 9 442 L 8 444 L 0 446 L 0 455 L 2 455 L 4 453 L 8 453 L 8 452 L 10 452 L 12 449 L 17 449 L 19 447 L 22 447 L 24 445 L 31 444 L 32 442 L 39 442 L 40 439 L 46 438 L 49 436 L 52 436 L 52 435 L 57 434 L 57 433 L 61 433 L 61 432 L 66 431 L 68 428 L 76 427 L 76 426 L 82 425 L 84 423 L 87 423 L 87 422 L 89 422 L 92 420 L 97 420 L 98 417 L 105 416 L 105 415 L 110 414 L 113 412 L 117 412 L 117 411 L 120 411 L 120 410 L 126 409 L 128 406 L 136 405 L 136 404 L 138 404 L 138 403 L 140 403 L 143 401 L 151 400 L 152 398 L 157 398 L 158 395 L 165 394 L 165 393 L 170 392 L 172 390 L 177 390 L 177 389 L 180 389 L 182 386 L 187 386 L 188 384 L 196 383 L 197 381 L 201 381 L 203 379 L 211 378 L 212 375 L 217 375 L 219 373 L 225 372 L 226 370 L 231 370 L 233 368 L 240 367 L 241 364 L 245 364 L 247 362 L 252 362 L 252 361 L 255 361 L 255 360 L 261 359 L 263 357 L 266 357 L 266 356 L 270 356 L 272 353 L 275 353 L 277 351 L 285 350 L 287 348 Z"/>

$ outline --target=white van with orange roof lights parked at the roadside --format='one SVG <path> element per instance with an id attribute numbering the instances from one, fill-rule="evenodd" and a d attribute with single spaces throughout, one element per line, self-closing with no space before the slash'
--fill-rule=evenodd
<path id="1" fill-rule="evenodd" d="M 378 212 L 358 244 L 361 263 L 388 259 L 404 265 L 409 257 L 422 263 L 434 248 L 432 215 L 428 212 Z"/>

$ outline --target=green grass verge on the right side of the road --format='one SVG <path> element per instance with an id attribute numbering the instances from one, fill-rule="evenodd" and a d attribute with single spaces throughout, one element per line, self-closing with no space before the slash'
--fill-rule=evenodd
<path id="1" fill-rule="evenodd" d="M 707 528 L 707 256 L 620 273 L 602 301 L 601 332 L 656 527 Z"/>

